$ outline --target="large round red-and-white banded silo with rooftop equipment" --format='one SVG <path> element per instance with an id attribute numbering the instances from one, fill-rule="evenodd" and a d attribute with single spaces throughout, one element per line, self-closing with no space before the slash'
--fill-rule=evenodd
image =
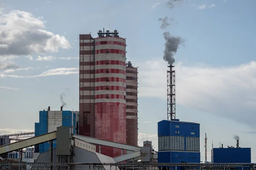
<path id="1" fill-rule="evenodd" d="M 113 37 L 106 33 L 95 39 L 95 138 L 125 144 L 126 44 L 118 33 Z M 121 150 L 102 146 L 101 153 L 116 157 Z"/>

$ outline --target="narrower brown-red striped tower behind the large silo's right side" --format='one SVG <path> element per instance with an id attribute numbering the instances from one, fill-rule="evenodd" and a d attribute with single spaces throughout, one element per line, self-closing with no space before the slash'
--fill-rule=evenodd
<path id="1" fill-rule="evenodd" d="M 138 70 L 126 64 L 126 143 L 138 145 Z"/>

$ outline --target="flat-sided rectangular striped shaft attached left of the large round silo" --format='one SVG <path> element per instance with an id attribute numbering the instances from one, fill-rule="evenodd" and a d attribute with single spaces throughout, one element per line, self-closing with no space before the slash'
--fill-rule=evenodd
<path id="1" fill-rule="evenodd" d="M 79 35 L 79 135 L 94 137 L 94 39 Z"/>

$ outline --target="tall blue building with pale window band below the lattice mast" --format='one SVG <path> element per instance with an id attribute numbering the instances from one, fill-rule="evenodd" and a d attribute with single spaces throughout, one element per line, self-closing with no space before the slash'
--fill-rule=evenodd
<path id="1" fill-rule="evenodd" d="M 179 119 L 158 122 L 158 163 L 200 163 L 200 124 Z"/>

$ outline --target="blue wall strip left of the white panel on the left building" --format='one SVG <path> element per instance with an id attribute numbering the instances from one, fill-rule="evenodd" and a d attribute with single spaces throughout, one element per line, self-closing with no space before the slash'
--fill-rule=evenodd
<path id="1" fill-rule="evenodd" d="M 43 135 L 47 133 L 47 118 L 48 118 L 47 111 L 40 111 L 39 112 L 39 135 Z M 39 144 L 39 152 L 44 152 L 44 144 Z"/>

